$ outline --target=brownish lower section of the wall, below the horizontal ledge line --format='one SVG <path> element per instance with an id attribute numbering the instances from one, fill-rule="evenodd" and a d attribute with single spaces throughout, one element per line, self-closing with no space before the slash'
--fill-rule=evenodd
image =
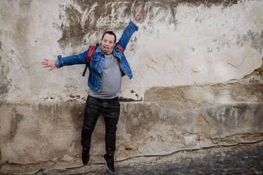
<path id="1" fill-rule="evenodd" d="M 198 110 L 167 109 L 152 102 L 122 102 L 116 159 L 165 155 L 185 148 L 253 142 L 263 138 L 263 103 L 229 103 Z M 25 173 L 81 165 L 81 102 L 1 102 L 1 172 Z M 90 162 L 105 152 L 104 123 L 93 133 Z M 22 168 L 23 167 L 23 168 Z"/>

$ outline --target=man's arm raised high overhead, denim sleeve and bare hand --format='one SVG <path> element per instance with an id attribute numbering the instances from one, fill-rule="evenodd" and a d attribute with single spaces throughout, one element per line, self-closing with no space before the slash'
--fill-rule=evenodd
<path id="1" fill-rule="evenodd" d="M 139 20 L 140 13 L 141 13 L 141 7 L 138 8 L 138 11 L 134 16 L 134 19 L 131 22 L 129 22 L 128 27 L 122 33 L 122 37 L 120 37 L 119 41 L 116 43 L 120 45 L 124 50 L 126 49 L 131 36 L 134 34 L 134 32 L 138 30 L 138 26 L 136 25 L 136 23 Z"/>

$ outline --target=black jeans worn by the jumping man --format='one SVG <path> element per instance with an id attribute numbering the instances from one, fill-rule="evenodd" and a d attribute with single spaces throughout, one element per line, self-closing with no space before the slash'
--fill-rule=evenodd
<path id="1" fill-rule="evenodd" d="M 81 145 L 83 149 L 90 150 L 91 134 L 98 117 L 102 114 L 105 120 L 106 153 L 107 155 L 114 155 L 119 109 L 119 97 L 114 99 L 99 99 L 88 95 L 81 133 Z"/>

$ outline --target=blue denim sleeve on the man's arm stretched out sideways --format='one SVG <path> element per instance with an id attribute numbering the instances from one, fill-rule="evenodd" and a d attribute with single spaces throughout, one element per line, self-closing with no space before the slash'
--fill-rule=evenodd
<path id="1" fill-rule="evenodd" d="M 55 60 L 55 64 L 57 68 L 61 68 L 62 66 L 71 66 L 74 64 L 86 64 L 88 50 L 78 54 L 78 55 L 71 55 L 62 57 L 61 55 L 57 56 Z"/>

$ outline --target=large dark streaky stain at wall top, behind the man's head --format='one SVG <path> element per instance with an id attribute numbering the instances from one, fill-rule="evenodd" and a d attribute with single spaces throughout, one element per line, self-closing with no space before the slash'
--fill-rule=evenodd
<path id="1" fill-rule="evenodd" d="M 71 49 L 76 49 L 78 46 L 88 46 L 96 44 L 100 42 L 100 37 L 103 35 L 103 32 L 107 30 L 117 31 L 117 30 L 124 30 L 124 28 L 127 26 L 127 23 L 124 23 L 124 21 L 117 19 L 119 17 L 119 14 L 113 14 L 111 15 L 112 11 L 119 8 L 119 6 L 124 7 L 124 10 L 121 12 L 121 18 L 132 18 L 134 14 L 136 13 L 136 10 L 139 6 L 143 8 L 143 11 L 141 11 L 141 22 L 144 21 L 144 19 L 150 18 L 154 19 L 156 15 L 158 15 L 157 12 L 153 12 L 153 7 L 159 7 L 159 11 L 170 11 L 171 16 L 163 16 L 163 20 L 169 21 L 169 23 L 173 23 L 177 25 L 177 20 L 175 19 L 176 14 L 176 7 L 180 4 L 187 4 L 189 6 L 199 6 L 203 4 L 206 7 L 211 7 L 213 5 L 219 6 L 222 5 L 224 7 L 232 6 L 233 4 L 238 4 L 238 0 L 163 0 L 163 1 L 153 1 L 153 0 L 141 0 L 141 1 L 132 1 L 132 0 L 117 0 L 117 1 L 95 1 L 95 0 L 71 0 L 74 4 L 77 4 L 80 6 L 82 11 L 85 11 L 87 8 L 90 8 L 90 6 L 93 6 L 94 4 L 98 4 L 98 6 L 95 6 L 95 9 L 93 11 L 94 16 L 87 16 L 85 21 L 85 26 L 81 28 L 81 18 L 83 16 L 83 13 L 79 13 L 76 8 L 72 5 L 68 4 L 60 4 L 59 5 L 59 11 L 61 12 L 59 14 L 59 18 L 64 20 L 64 23 L 62 25 L 57 26 L 59 30 L 62 30 L 62 37 L 58 40 L 59 46 L 64 50 L 67 47 Z M 68 1 L 67 1 L 68 3 Z M 112 3 L 115 3 L 117 5 L 112 6 Z M 148 6 L 150 4 L 150 6 Z M 148 8 L 145 8 L 145 7 Z M 66 13 L 65 16 L 63 13 Z M 101 27 L 97 27 L 97 23 L 100 23 L 98 21 L 99 18 L 106 18 L 107 22 L 105 22 L 105 25 Z M 167 20 L 168 19 L 168 20 Z M 94 20 L 94 21 L 93 21 Z M 149 20 L 147 22 L 148 27 L 153 27 L 153 21 Z M 54 25 L 56 26 L 56 25 Z M 97 37 L 96 40 L 87 40 L 90 38 L 90 35 L 95 35 Z M 86 37 L 86 38 L 85 38 Z M 134 39 L 135 40 L 135 39 Z M 80 51 L 74 50 L 73 54 L 77 54 Z M 72 54 L 72 53 L 71 53 Z"/>

